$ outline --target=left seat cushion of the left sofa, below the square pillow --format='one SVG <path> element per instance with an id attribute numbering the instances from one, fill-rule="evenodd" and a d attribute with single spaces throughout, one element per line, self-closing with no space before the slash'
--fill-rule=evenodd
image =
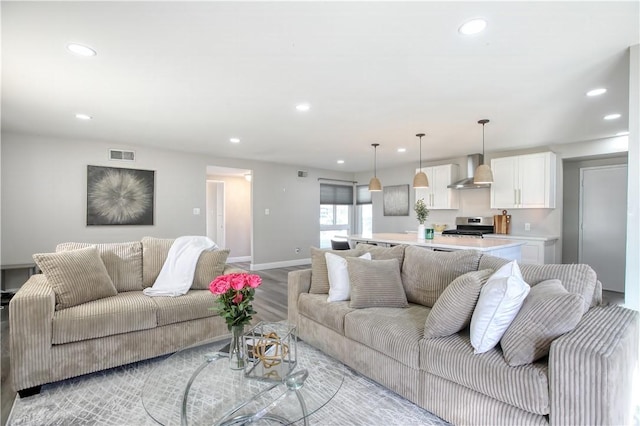
<path id="1" fill-rule="evenodd" d="M 53 315 L 54 345 L 154 328 L 156 304 L 142 291 L 83 303 Z"/>

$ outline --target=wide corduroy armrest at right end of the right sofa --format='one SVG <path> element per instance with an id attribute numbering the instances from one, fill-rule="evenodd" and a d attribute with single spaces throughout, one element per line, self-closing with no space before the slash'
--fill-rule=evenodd
<path id="1" fill-rule="evenodd" d="M 594 307 L 551 344 L 550 424 L 631 424 L 638 318 L 620 306 Z"/>

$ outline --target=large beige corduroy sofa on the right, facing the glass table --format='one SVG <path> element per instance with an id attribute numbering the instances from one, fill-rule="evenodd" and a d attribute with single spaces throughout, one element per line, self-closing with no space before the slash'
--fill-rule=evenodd
<path id="1" fill-rule="evenodd" d="M 326 282 L 318 285 L 327 279 L 324 251 L 312 248 L 311 269 L 289 273 L 288 319 L 301 339 L 454 424 L 630 424 L 638 313 L 603 306 L 601 284 L 589 266 L 520 265 L 532 289 L 556 278 L 579 294 L 584 314 L 572 331 L 553 340 L 548 356 L 513 367 L 500 344 L 474 354 L 469 327 L 425 338 L 432 308 L 420 303 L 462 274 L 496 270 L 507 260 L 402 246 L 332 252 L 347 258 L 366 251 L 374 260 L 398 259 L 408 307 L 354 309 L 350 301 L 328 302 Z M 352 301 L 351 266 L 357 261 L 349 261 Z"/>

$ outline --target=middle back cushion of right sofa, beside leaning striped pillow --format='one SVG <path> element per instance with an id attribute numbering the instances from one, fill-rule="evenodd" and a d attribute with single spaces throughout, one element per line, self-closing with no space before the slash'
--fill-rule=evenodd
<path id="1" fill-rule="evenodd" d="M 407 247 L 402 266 L 407 300 L 432 307 L 449 283 L 462 274 L 477 271 L 479 260 L 480 252 L 476 250 L 437 252 Z"/>

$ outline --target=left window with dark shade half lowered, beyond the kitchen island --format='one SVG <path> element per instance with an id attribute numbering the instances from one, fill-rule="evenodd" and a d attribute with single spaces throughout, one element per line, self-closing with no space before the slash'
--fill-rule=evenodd
<path id="1" fill-rule="evenodd" d="M 351 233 L 353 186 L 320 184 L 320 247 L 331 247 L 331 239 Z"/>

